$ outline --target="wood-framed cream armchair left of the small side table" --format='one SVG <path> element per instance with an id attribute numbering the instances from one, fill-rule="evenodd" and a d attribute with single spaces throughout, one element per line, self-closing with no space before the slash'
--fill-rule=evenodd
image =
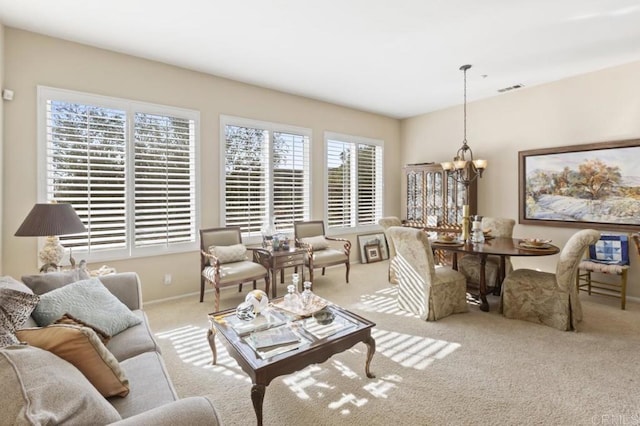
<path id="1" fill-rule="evenodd" d="M 265 292 L 269 294 L 269 271 L 253 261 L 253 250 L 242 244 L 239 226 L 200 230 L 200 302 L 204 300 L 205 282 L 216 291 L 215 310 L 220 307 L 220 288 L 264 279 Z"/>

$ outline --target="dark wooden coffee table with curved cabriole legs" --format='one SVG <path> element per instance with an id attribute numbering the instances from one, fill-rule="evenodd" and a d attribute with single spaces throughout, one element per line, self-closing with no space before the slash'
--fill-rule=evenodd
<path id="1" fill-rule="evenodd" d="M 275 302 L 278 302 L 278 300 L 275 300 Z M 319 325 L 316 323 L 314 328 L 315 320 L 289 316 L 288 318 L 293 319 L 293 321 L 285 322 L 278 327 L 293 328 L 303 338 L 302 345 L 296 349 L 265 359 L 247 343 L 246 334 L 241 336 L 233 328 L 231 320 L 235 320 L 235 309 L 209 314 L 211 326 L 207 333 L 207 338 L 213 353 L 212 364 L 217 361 L 215 337 L 216 334 L 220 334 L 223 337 L 222 342 L 227 347 L 229 355 L 238 362 L 240 368 L 249 375 L 253 382 L 251 401 L 256 412 L 258 425 L 262 425 L 262 405 L 266 387 L 274 378 L 302 370 L 311 364 L 322 363 L 333 355 L 353 347 L 358 342 L 363 342 L 367 345 L 365 373 L 369 378 L 375 377 L 369 369 L 371 359 L 376 351 L 376 342 L 371 337 L 371 329 L 375 324 L 335 305 L 329 305 L 325 310 L 329 310 L 336 316 L 335 321 L 339 320 L 345 324 L 350 323 L 352 325 L 347 325 L 326 337 L 318 337 L 316 328 Z M 276 313 L 280 315 L 281 312 L 278 311 Z"/>

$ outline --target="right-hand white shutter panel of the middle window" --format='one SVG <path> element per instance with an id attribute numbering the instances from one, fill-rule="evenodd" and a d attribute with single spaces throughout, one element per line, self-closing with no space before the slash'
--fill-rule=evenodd
<path id="1" fill-rule="evenodd" d="M 277 231 L 292 231 L 307 220 L 309 206 L 309 138 L 274 132 L 273 222 Z"/>

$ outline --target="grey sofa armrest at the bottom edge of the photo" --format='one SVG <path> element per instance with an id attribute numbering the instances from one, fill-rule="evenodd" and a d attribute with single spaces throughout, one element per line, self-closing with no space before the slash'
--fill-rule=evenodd
<path id="1" fill-rule="evenodd" d="M 149 411 L 112 423 L 114 426 L 221 425 L 213 403 L 206 397 L 193 396 L 164 404 Z"/>

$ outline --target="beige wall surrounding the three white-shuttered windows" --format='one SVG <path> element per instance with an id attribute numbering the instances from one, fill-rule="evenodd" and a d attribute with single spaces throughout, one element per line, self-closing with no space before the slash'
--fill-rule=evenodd
<path id="1" fill-rule="evenodd" d="M 312 156 L 323 157 L 323 133 L 333 131 L 385 141 L 387 188 L 400 186 L 398 120 L 292 96 L 188 71 L 153 61 L 5 29 L 5 83 L 15 100 L 5 104 L 5 185 L 2 256 L 4 272 L 20 277 L 37 271 L 35 238 L 13 234 L 36 202 L 36 86 L 46 85 L 195 109 L 201 114 L 202 226 L 219 225 L 219 116 L 220 114 L 286 123 L 312 129 Z M 312 169 L 312 216 L 322 219 L 323 170 Z M 386 213 L 399 214 L 398 194 L 388 191 Z M 355 237 L 350 236 L 355 243 Z M 357 245 L 355 245 L 357 247 Z M 357 261 L 357 250 L 353 260 Z M 197 252 L 109 262 L 119 271 L 136 271 L 145 300 L 199 291 Z M 90 265 L 98 267 L 100 265 Z M 173 284 L 164 286 L 165 273 Z M 212 296 L 208 296 L 211 298 Z"/>

